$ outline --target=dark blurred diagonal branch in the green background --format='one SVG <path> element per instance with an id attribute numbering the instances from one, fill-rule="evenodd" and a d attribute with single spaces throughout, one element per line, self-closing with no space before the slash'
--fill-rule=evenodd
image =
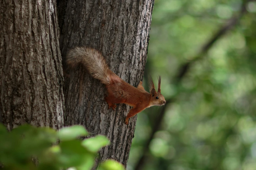
<path id="1" fill-rule="evenodd" d="M 213 44 L 218 40 L 220 39 L 220 37 L 222 37 L 223 35 L 225 35 L 228 31 L 230 31 L 237 23 L 238 21 L 241 19 L 241 17 L 247 12 L 246 10 L 246 5 L 249 1 L 244 1 L 243 2 L 243 5 L 240 9 L 240 12 L 238 15 L 236 16 L 233 16 L 230 18 L 230 20 L 227 21 L 226 24 L 224 24 L 217 32 L 215 35 L 213 35 L 213 37 L 205 43 L 205 45 L 202 46 L 202 49 L 200 50 L 200 52 L 198 53 L 198 55 L 196 55 L 196 57 L 193 57 L 194 59 L 191 60 L 191 61 L 188 61 L 186 63 L 184 63 L 183 65 L 180 66 L 179 68 L 179 72 L 176 76 L 176 85 L 178 86 L 179 83 L 181 82 L 182 78 L 185 77 L 185 75 L 188 73 L 188 70 L 191 66 L 191 64 L 195 63 L 195 61 L 203 58 L 205 56 L 205 54 L 212 48 Z M 149 151 L 149 144 L 151 142 L 151 140 L 153 139 L 155 133 L 160 130 L 160 126 L 161 126 L 161 123 L 162 123 L 162 120 L 164 118 L 164 113 L 165 113 L 165 110 L 167 108 L 167 106 L 169 107 L 169 105 L 174 101 L 175 99 L 174 98 L 171 98 L 171 99 L 167 99 L 166 101 L 166 104 L 165 106 L 162 108 L 160 114 L 158 114 L 157 118 L 156 118 L 156 121 L 153 128 L 152 128 L 152 131 L 151 131 L 151 134 L 150 134 L 150 137 L 148 138 L 147 142 L 145 143 L 145 148 L 143 149 L 143 155 L 142 157 L 139 159 L 136 167 L 135 167 L 135 170 L 141 170 L 143 167 L 144 167 L 144 164 L 145 164 L 145 160 L 147 159 L 147 153 Z"/>

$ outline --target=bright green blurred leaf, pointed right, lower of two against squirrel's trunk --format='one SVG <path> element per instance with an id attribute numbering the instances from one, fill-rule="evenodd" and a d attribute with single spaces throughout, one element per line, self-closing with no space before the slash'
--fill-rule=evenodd
<path id="1" fill-rule="evenodd" d="M 91 137 L 82 141 L 82 145 L 94 153 L 109 144 L 109 139 L 103 135 L 97 135 L 95 137 Z"/>

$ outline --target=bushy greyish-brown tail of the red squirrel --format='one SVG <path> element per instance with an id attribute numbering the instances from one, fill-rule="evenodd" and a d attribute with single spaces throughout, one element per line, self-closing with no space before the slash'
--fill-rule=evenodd
<path id="1" fill-rule="evenodd" d="M 66 63 L 75 67 L 82 64 L 93 78 L 100 80 L 103 84 L 110 84 L 111 73 L 109 66 L 100 52 L 87 47 L 76 47 L 69 50 Z"/>

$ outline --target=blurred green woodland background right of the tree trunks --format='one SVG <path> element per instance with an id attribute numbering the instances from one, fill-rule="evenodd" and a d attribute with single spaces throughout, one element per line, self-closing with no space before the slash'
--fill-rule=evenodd
<path id="1" fill-rule="evenodd" d="M 156 0 L 127 170 L 256 170 L 256 1 Z"/>

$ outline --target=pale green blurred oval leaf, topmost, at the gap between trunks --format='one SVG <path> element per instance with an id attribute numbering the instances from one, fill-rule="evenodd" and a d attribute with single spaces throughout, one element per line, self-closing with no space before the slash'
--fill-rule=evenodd
<path id="1" fill-rule="evenodd" d="M 85 136 L 87 134 L 87 131 L 81 125 L 64 127 L 58 132 L 58 136 L 62 141 L 76 139 L 79 136 Z"/>

